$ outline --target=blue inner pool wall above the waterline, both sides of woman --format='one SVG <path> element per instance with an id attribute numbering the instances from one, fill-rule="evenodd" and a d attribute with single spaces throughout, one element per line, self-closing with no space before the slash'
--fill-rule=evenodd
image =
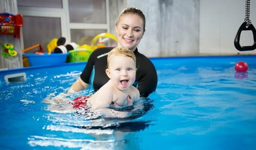
<path id="1" fill-rule="evenodd" d="M 235 56 L 193 56 L 193 57 L 161 57 L 161 58 L 149 58 L 151 62 L 155 65 L 155 68 L 158 69 L 158 66 L 162 66 L 165 64 L 170 65 L 173 69 L 176 66 L 176 63 L 180 65 L 189 63 L 192 66 L 195 65 L 202 65 L 207 66 L 207 63 L 214 63 L 216 65 L 218 64 L 229 64 L 229 65 L 235 65 L 236 62 L 244 61 L 249 65 L 256 64 L 256 55 L 235 55 Z M 180 62 L 181 61 L 181 62 Z M 79 63 L 64 63 L 61 65 L 47 65 L 47 66 L 32 66 L 32 67 L 26 67 L 26 68 L 18 68 L 18 69 L 9 69 L 9 70 L 3 70 L 0 71 L 0 84 L 5 83 L 4 77 L 5 75 L 10 74 L 17 74 L 25 72 L 27 75 L 29 74 L 36 74 L 37 72 L 48 72 L 49 74 L 55 74 L 59 71 L 63 72 L 65 71 L 73 71 L 73 68 L 77 71 L 83 71 L 85 65 L 87 62 L 79 62 Z M 51 72 L 49 72 L 49 69 Z"/>

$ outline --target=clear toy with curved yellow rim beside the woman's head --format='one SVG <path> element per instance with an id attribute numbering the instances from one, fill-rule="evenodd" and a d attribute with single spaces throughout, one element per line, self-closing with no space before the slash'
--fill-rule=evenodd
<path id="1" fill-rule="evenodd" d="M 118 40 L 113 34 L 101 33 L 91 40 L 91 49 L 95 50 L 98 47 L 114 47 L 117 43 Z"/>

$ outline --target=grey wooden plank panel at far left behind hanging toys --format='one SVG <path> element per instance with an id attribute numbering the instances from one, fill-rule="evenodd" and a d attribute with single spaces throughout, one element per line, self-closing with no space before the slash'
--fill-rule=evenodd
<path id="1" fill-rule="evenodd" d="M 18 13 L 17 0 L 0 0 L 0 12 L 9 12 L 14 15 Z M 17 55 L 12 58 L 5 58 L 2 56 L 2 44 L 11 43 L 17 51 Z M 20 39 L 15 38 L 13 35 L 0 35 L 0 69 L 14 69 L 22 68 L 22 53 L 20 46 Z"/>

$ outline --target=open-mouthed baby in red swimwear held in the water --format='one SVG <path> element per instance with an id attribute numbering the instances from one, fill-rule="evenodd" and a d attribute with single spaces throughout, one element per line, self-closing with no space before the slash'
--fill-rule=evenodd
<path id="1" fill-rule="evenodd" d="M 74 99 L 73 105 L 78 108 L 86 104 L 91 109 L 122 107 L 132 105 L 140 99 L 140 92 L 132 86 L 136 77 L 136 57 L 129 49 L 114 47 L 108 54 L 106 74 L 110 80 L 93 96 L 82 96 Z M 131 101 L 128 101 L 131 99 Z"/>

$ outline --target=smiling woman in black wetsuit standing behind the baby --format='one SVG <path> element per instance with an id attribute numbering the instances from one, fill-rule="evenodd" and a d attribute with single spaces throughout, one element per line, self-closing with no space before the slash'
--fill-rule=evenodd
<path id="1" fill-rule="evenodd" d="M 152 62 L 143 54 L 140 54 L 137 45 L 145 32 L 145 16 L 143 12 L 134 7 L 124 9 L 116 23 L 118 47 L 128 48 L 136 55 L 136 80 L 135 86 L 140 95 L 147 97 L 157 87 L 157 73 Z M 78 80 L 70 87 L 69 92 L 81 91 L 92 85 L 98 90 L 109 80 L 105 73 L 108 52 L 112 47 L 95 49 Z"/>

